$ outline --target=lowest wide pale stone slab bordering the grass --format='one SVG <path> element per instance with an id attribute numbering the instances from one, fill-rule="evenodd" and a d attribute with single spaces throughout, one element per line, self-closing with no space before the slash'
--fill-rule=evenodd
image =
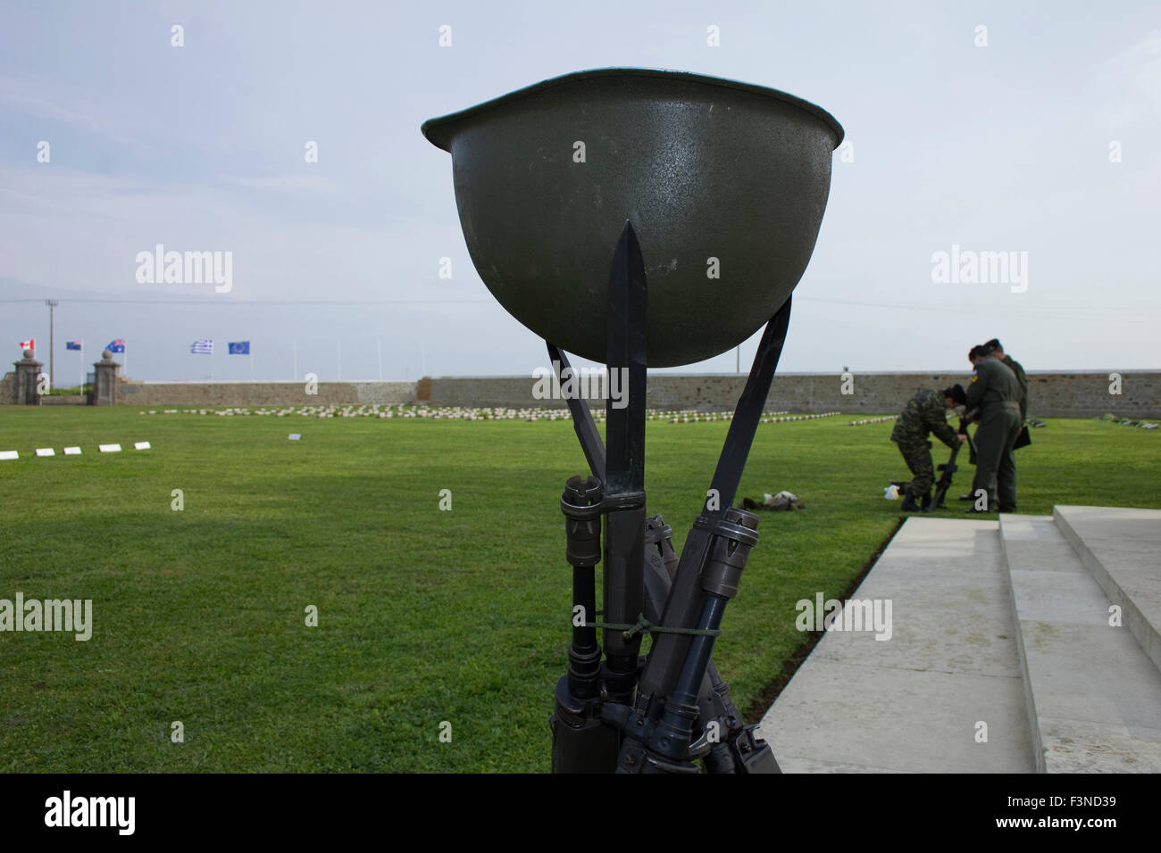
<path id="1" fill-rule="evenodd" d="M 762 720 L 783 771 L 1033 772 L 1010 595 L 997 522 L 908 519 L 852 595 L 889 638 L 828 630 Z"/>

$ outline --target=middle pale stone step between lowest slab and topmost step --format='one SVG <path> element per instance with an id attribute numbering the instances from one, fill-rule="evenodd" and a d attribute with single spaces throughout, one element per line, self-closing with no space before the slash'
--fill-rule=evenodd
<path id="1" fill-rule="evenodd" d="M 1040 773 L 1161 772 L 1161 672 L 1052 516 L 1001 515 Z"/>

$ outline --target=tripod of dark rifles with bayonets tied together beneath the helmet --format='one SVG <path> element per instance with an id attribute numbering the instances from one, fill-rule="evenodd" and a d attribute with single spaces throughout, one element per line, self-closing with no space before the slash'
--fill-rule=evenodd
<path id="1" fill-rule="evenodd" d="M 561 496 L 574 616 L 568 674 L 556 686 L 550 720 L 554 772 L 780 772 L 756 727 L 742 723 L 711 653 L 758 542 L 757 515 L 731 504 L 789 310 L 787 298 L 766 326 L 701 514 L 678 556 L 671 528 L 646 512 L 646 274 L 636 234 L 626 223 L 610 275 L 607 364 L 628 370 L 629 392 L 623 407 L 607 404 L 607 449 L 587 403 L 568 400 L 592 476 L 570 478 Z M 568 357 L 551 344 L 548 353 L 564 385 Z M 601 559 L 604 609 L 598 612 L 594 573 Z M 642 658 L 644 634 L 654 642 Z"/>

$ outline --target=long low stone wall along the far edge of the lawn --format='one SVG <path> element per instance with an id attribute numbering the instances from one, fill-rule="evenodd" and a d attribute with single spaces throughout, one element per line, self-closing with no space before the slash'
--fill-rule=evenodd
<path id="1" fill-rule="evenodd" d="M 1041 418 L 1093 418 L 1112 412 L 1125 418 L 1161 420 L 1161 373 L 1123 371 L 1122 393 L 1109 393 L 1109 373 L 1029 374 L 1029 414 Z M 942 389 L 968 374 L 854 374 L 853 393 L 842 393 L 838 374 L 784 374 L 774 377 L 769 409 L 789 412 L 892 414 L 922 388 Z M 9 377 L 0 379 L 0 391 Z M 302 382 L 174 382 L 122 381 L 120 402 L 138 407 L 302 406 L 331 404 L 411 404 L 481 409 L 563 407 L 563 400 L 538 400 L 531 376 L 439 377 L 419 382 L 319 382 L 318 393 L 305 393 Z M 744 376 L 649 377 L 650 409 L 731 411 Z M 12 392 L 0 396 L 10 403 Z"/>

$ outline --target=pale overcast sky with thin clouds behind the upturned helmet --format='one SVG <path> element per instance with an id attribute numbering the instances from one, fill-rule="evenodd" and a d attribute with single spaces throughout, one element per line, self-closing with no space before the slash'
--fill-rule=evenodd
<path id="1" fill-rule="evenodd" d="M 340 347 L 342 378 L 531 375 L 543 344 L 476 275 L 419 125 L 605 66 L 770 86 L 844 125 L 783 370 L 966 371 L 991 337 L 1029 370 L 1161 367 L 1156 2 L 5 0 L 3 361 L 35 337 L 48 362 L 52 297 L 58 385 L 65 340 L 92 362 L 118 338 L 139 379 L 332 379 Z M 156 244 L 231 252 L 232 290 L 138 283 Z M 1026 289 L 932 281 L 953 245 L 1026 252 Z"/>

